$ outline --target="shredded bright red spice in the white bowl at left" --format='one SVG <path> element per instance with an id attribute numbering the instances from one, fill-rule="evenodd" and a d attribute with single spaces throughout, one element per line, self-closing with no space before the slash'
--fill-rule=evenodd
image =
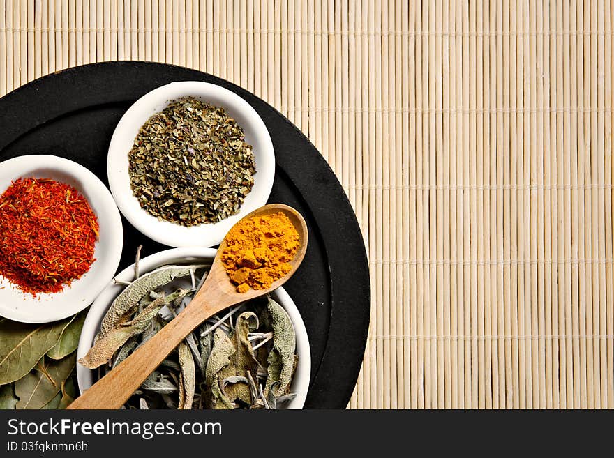
<path id="1" fill-rule="evenodd" d="M 95 260 L 98 230 L 72 186 L 18 178 L 0 197 L 0 274 L 33 296 L 62 291 Z"/>

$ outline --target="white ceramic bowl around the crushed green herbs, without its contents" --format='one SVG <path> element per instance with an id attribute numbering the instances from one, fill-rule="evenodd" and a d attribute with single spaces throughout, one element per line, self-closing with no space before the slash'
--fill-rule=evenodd
<path id="1" fill-rule="evenodd" d="M 253 188 L 237 215 L 220 222 L 192 227 L 160 221 L 144 211 L 130 188 L 128 174 L 128 153 L 141 126 L 153 114 L 165 109 L 170 102 L 186 96 L 225 108 L 243 128 L 245 141 L 253 146 L 256 165 Z M 234 223 L 267 203 L 275 176 L 275 153 L 267 126 L 243 98 L 216 84 L 198 81 L 174 82 L 145 94 L 122 116 L 109 146 L 107 174 L 119 210 L 144 235 L 172 247 L 211 247 L 222 241 Z"/>

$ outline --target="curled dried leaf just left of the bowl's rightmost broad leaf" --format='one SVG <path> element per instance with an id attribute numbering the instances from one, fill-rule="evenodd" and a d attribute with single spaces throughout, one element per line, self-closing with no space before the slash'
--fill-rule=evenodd
<path id="1" fill-rule="evenodd" d="M 230 355 L 228 365 L 220 370 L 219 378 L 221 381 L 232 376 L 242 376 L 247 380 L 247 374 L 255 374 L 258 370 L 258 362 L 254 356 L 252 344 L 248 339 L 250 331 L 257 329 L 258 319 L 253 312 L 243 312 L 237 317 L 234 325 L 232 342 L 234 353 Z M 252 404 L 250 387 L 248 383 L 237 381 L 225 388 L 225 395 L 231 402 L 240 400 L 248 406 Z"/>

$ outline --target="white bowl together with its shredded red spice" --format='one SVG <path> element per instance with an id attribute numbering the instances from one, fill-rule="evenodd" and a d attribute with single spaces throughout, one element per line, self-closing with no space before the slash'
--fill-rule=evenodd
<path id="1" fill-rule="evenodd" d="M 117 206 L 91 171 L 53 155 L 0 163 L 0 316 L 80 312 L 113 277 L 122 245 Z"/>

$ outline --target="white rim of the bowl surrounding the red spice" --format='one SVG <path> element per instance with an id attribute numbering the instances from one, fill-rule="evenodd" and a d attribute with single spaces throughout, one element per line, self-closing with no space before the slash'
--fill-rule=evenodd
<path id="1" fill-rule="evenodd" d="M 100 178 L 94 175 L 87 167 L 73 160 L 56 155 L 20 155 L 0 162 L 0 180 L 5 181 L 8 179 L 3 173 L 3 170 L 10 170 L 10 175 L 13 176 L 13 178 L 10 178 L 10 181 L 13 181 L 20 177 L 26 178 L 36 175 L 38 170 L 44 169 L 50 170 L 50 174 L 53 174 L 55 171 L 58 174 L 66 175 L 75 182 L 87 182 L 87 188 L 83 186 L 83 189 L 79 189 L 79 191 L 84 194 L 89 205 L 95 211 L 101 229 L 100 236 L 104 237 L 105 241 L 108 241 L 108 245 L 110 245 L 112 249 L 104 253 L 95 252 L 96 261 L 94 261 L 90 270 L 80 279 L 70 284 L 69 287 L 65 287 L 63 291 L 53 294 L 40 294 L 38 296 L 40 307 L 37 307 L 36 310 L 33 310 L 31 307 L 19 307 L 15 309 L 10 305 L 12 300 L 0 300 L 0 316 L 22 323 L 50 323 L 52 321 L 68 318 L 68 316 L 72 316 L 84 310 L 84 308 L 96 299 L 98 293 L 106 287 L 107 282 L 109 282 L 117 272 L 117 267 L 121 259 L 121 251 L 123 249 L 123 227 L 119 210 L 107 187 L 100 181 Z M 50 178 L 53 177 L 50 176 Z M 58 178 L 58 181 L 64 182 L 61 178 Z M 80 186 L 77 186 L 77 188 L 80 188 Z M 4 192 L 4 190 L 6 190 L 6 188 L 0 190 L 0 194 Z M 103 230 L 103 228 L 105 230 Z M 102 249 L 100 247 L 100 238 L 96 242 L 96 250 L 98 249 Z M 104 259 L 100 259 L 102 257 L 104 257 Z M 89 275 L 93 272 L 93 266 L 95 266 L 96 263 L 100 263 L 98 266 L 103 270 L 98 272 L 97 275 Z M 73 291 L 77 289 L 82 291 L 82 293 L 77 296 L 78 299 L 71 298 L 70 300 L 65 300 L 66 296 L 73 294 Z M 26 296 L 25 293 L 22 294 L 24 294 L 23 299 L 26 306 L 28 306 L 33 299 Z M 58 304 L 61 304 L 61 306 Z"/>

